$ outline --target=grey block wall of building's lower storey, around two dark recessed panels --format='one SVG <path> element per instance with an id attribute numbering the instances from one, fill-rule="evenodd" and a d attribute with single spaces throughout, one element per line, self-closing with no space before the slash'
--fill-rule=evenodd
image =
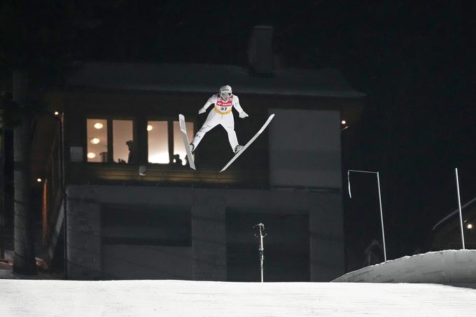
<path id="1" fill-rule="evenodd" d="M 330 281 L 344 273 L 342 199 L 339 192 L 307 190 L 225 190 L 202 188 L 158 188 L 144 186 L 70 185 L 68 190 L 68 258 L 71 279 L 98 279 L 116 272 L 118 263 L 106 255 L 120 256 L 132 247 L 101 244 L 101 204 L 158 204 L 190 208 L 192 247 L 181 254 L 182 274 L 177 262 L 162 261 L 161 272 L 174 272 L 170 279 L 226 281 L 227 209 L 269 213 L 309 213 L 311 281 Z M 279 234 L 279 232 L 269 232 Z M 179 248 L 170 247 L 172 253 Z M 129 250 L 129 251 L 127 251 Z M 183 250 L 183 249 L 182 249 Z M 157 258 L 163 249 L 154 251 Z M 154 256 L 155 256 L 154 255 Z M 141 262 L 138 256 L 130 260 Z M 124 263 L 120 264 L 124 265 Z M 123 266 L 124 270 L 132 269 Z M 135 274 L 135 275 L 134 275 Z M 136 273 L 130 277 L 141 276 Z M 125 278 L 125 275 L 123 275 Z M 144 276 L 144 275 L 142 275 Z M 156 273 L 153 276 L 160 276 Z M 163 276 L 163 275 L 162 275 Z M 179 276 L 179 277 L 177 277 Z M 161 277 L 162 278 L 162 277 Z"/>

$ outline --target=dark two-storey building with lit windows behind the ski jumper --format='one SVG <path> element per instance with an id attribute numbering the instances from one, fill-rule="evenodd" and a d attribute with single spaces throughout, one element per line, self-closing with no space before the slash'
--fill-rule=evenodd
<path id="1" fill-rule="evenodd" d="M 223 173 L 232 151 L 225 130 L 211 130 L 193 171 L 178 115 L 193 137 L 198 109 L 225 84 L 249 115 L 235 113 L 240 144 L 275 118 Z M 34 167 L 45 174 L 43 235 L 50 261 L 66 250 L 69 279 L 258 281 L 257 223 L 268 232 L 265 281 L 344 273 L 341 120 L 357 120 L 364 101 L 337 71 L 85 64 L 45 101 L 62 120 L 35 136 L 55 140 L 46 168 Z"/>

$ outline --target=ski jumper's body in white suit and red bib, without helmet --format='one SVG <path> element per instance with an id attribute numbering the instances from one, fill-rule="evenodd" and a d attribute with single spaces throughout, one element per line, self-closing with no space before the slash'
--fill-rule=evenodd
<path id="1" fill-rule="evenodd" d="M 232 94 L 227 101 L 223 101 L 220 94 L 214 94 L 208 99 L 207 103 L 204 104 L 203 108 L 207 110 L 211 104 L 215 104 L 213 110 L 210 111 L 207 120 L 205 120 L 200 130 L 195 134 L 195 138 L 193 138 L 192 144 L 194 150 L 197 149 L 198 144 L 202 141 L 203 136 L 207 132 L 216 127 L 216 125 L 221 125 L 228 133 L 228 141 L 230 141 L 232 151 L 235 151 L 238 140 L 235 132 L 235 119 L 233 118 L 232 108 L 235 106 L 235 109 L 237 109 L 239 113 L 243 111 L 239 105 L 238 97 Z"/>

